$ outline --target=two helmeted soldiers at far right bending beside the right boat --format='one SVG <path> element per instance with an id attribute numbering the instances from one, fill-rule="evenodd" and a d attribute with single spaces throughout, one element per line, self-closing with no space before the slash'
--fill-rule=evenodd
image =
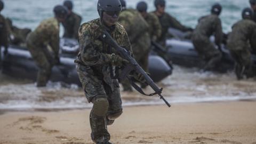
<path id="1" fill-rule="evenodd" d="M 256 0 L 249 2 L 251 8 L 247 7 L 242 11 L 242 20 L 232 26 L 231 33 L 227 34 L 227 42 L 224 42 L 235 60 L 237 79 L 256 75 L 256 66 L 251 59 L 251 54 L 256 51 Z M 195 50 L 206 62 L 204 70 L 210 70 L 221 62 L 221 44 L 225 37 L 219 18 L 221 11 L 221 5 L 214 4 L 211 14 L 198 20 L 198 25 L 191 36 Z M 215 43 L 210 41 L 211 35 L 214 35 Z"/>

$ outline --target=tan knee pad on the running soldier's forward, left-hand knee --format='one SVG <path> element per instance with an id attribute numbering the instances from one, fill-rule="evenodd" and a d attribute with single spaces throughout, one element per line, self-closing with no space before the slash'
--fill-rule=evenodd
<path id="1" fill-rule="evenodd" d="M 98 98 L 93 102 L 93 114 L 97 116 L 105 116 L 108 110 L 108 100 L 107 98 Z"/>

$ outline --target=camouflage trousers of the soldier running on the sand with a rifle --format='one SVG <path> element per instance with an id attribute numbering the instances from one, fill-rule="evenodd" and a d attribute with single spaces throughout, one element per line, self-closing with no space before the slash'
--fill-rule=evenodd
<path id="1" fill-rule="evenodd" d="M 103 79 L 94 75 L 89 66 L 77 63 L 76 69 L 85 97 L 93 103 L 90 114 L 91 138 L 94 142 L 107 142 L 110 140 L 107 125 L 113 124 L 123 111 L 119 84 L 113 79 L 114 89 L 111 89 Z"/>

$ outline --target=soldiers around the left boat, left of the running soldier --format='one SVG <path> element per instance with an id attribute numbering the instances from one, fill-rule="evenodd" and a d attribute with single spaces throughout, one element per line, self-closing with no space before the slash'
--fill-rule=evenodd
<path id="1" fill-rule="evenodd" d="M 3 7 L 4 3 L 0 0 L 1 11 Z M 19 29 L 12 25 L 10 19 L 5 19 L 0 15 L 0 46 L 5 47 L 4 54 L 7 54 L 9 43 L 27 47 L 38 67 L 38 87 L 46 85 L 51 76 L 52 67 L 60 62 L 60 23 L 65 29 L 63 37 L 78 39 L 78 29 L 82 18 L 72 10 L 73 3 L 71 1 L 65 1 L 63 5 L 55 6 L 54 17 L 43 20 L 34 31 L 27 28 Z"/>

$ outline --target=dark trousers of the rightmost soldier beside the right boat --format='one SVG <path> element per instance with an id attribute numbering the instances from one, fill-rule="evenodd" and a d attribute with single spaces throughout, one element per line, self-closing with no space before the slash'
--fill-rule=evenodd
<path id="1" fill-rule="evenodd" d="M 247 78 L 256 75 L 256 68 L 251 60 L 251 52 L 249 47 L 243 49 L 230 49 L 231 57 L 235 60 L 235 73 L 237 79 L 242 79 L 243 75 Z"/>

